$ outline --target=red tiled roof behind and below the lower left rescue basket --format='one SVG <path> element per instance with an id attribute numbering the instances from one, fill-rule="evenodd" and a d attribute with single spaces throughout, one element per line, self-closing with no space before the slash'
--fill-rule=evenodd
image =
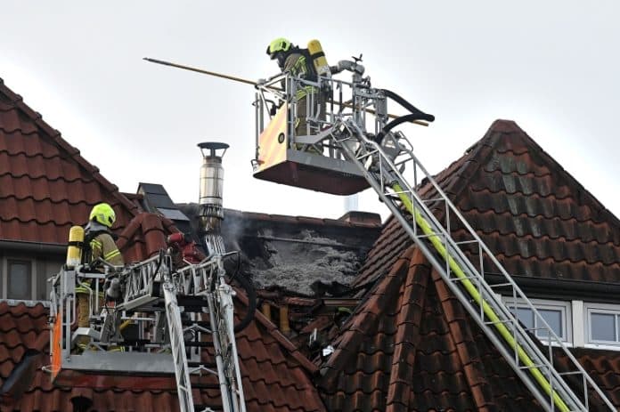
<path id="1" fill-rule="evenodd" d="M 118 246 L 126 262 L 143 260 L 166 246 L 167 235 L 175 231 L 170 221 L 157 214 L 138 214 L 119 235 Z M 243 313 L 248 301 L 237 292 L 235 312 Z M 20 411 L 66 411 L 71 402 L 98 412 L 177 410 L 175 391 L 167 386 L 150 390 L 135 388 L 54 387 L 41 370 L 49 365 L 48 311 L 41 304 L 27 307 L 0 303 L 0 394 L 5 408 Z M 249 327 L 237 335 L 241 376 L 249 411 L 323 411 L 311 376 L 316 367 L 288 338 L 257 312 Z M 29 369 L 18 368 L 28 353 Z M 203 352 L 207 360 L 212 353 Z M 27 357 L 28 359 L 28 357 Z M 213 361 L 213 359 L 209 359 Z M 8 383 L 8 384 L 6 384 Z M 208 377 L 201 384 L 216 384 Z M 221 406 L 219 389 L 203 389 L 194 401 L 212 408 Z"/>

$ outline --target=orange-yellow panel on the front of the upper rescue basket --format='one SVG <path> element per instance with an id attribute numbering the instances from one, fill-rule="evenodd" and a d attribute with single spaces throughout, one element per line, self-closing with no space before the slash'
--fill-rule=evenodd
<path id="1" fill-rule="evenodd" d="M 269 125 L 265 127 L 263 133 L 258 138 L 258 170 L 277 165 L 286 160 L 286 148 L 288 141 L 286 138 L 286 118 L 288 115 L 288 105 L 284 103 Z"/>

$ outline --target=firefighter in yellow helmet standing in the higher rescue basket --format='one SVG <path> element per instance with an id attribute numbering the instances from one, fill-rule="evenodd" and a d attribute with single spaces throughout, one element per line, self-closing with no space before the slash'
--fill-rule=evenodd
<path id="1" fill-rule="evenodd" d="M 276 38 L 267 46 L 267 54 L 272 60 L 278 62 L 282 73 L 289 74 L 293 77 L 300 77 L 304 80 L 315 82 L 317 80 L 316 69 L 307 49 L 300 49 L 298 46 L 290 43 L 286 38 Z M 310 110 L 310 117 L 316 117 L 319 120 L 325 120 L 325 99 L 322 93 L 319 93 L 317 87 L 313 85 L 299 84 L 295 93 L 297 101 L 297 118 L 295 119 L 295 135 L 305 136 L 308 133 L 306 129 L 307 101 L 313 102 Z M 299 149 L 299 147 L 298 147 Z"/>

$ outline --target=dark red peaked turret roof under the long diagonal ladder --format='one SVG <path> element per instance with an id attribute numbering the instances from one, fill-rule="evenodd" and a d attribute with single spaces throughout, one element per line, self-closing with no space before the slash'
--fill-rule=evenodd
<path id="1" fill-rule="evenodd" d="M 330 410 L 540 410 L 415 247 L 332 344 Z"/>

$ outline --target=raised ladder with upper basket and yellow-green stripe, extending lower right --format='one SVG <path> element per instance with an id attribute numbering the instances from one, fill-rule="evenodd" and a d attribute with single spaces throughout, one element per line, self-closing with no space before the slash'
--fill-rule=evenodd
<path id="1" fill-rule="evenodd" d="M 351 80 L 337 79 L 342 72 Z M 371 187 L 542 408 L 587 411 L 594 397 L 616 410 L 396 131 L 404 123 L 428 125 L 434 117 L 372 87 L 363 74 L 361 59 L 354 58 L 315 78 L 281 74 L 257 81 L 254 176 L 338 195 Z M 299 105 L 297 92 L 308 87 L 314 92 Z M 408 113 L 390 115 L 388 101 Z M 306 128 L 296 133 L 298 117 L 306 117 Z M 430 197 L 420 196 L 422 187 Z M 465 237 L 453 236 L 455 230 Z M 500 273 L 502 280 L 491 284 L 487 273 Z M 514 306 L 502 301 L 500 289 L 510 291 Z M 517 302 L 534 313 L 535 328 L 518 321 Z M 567 367 L 558 367 L 559 356 Z"/>

